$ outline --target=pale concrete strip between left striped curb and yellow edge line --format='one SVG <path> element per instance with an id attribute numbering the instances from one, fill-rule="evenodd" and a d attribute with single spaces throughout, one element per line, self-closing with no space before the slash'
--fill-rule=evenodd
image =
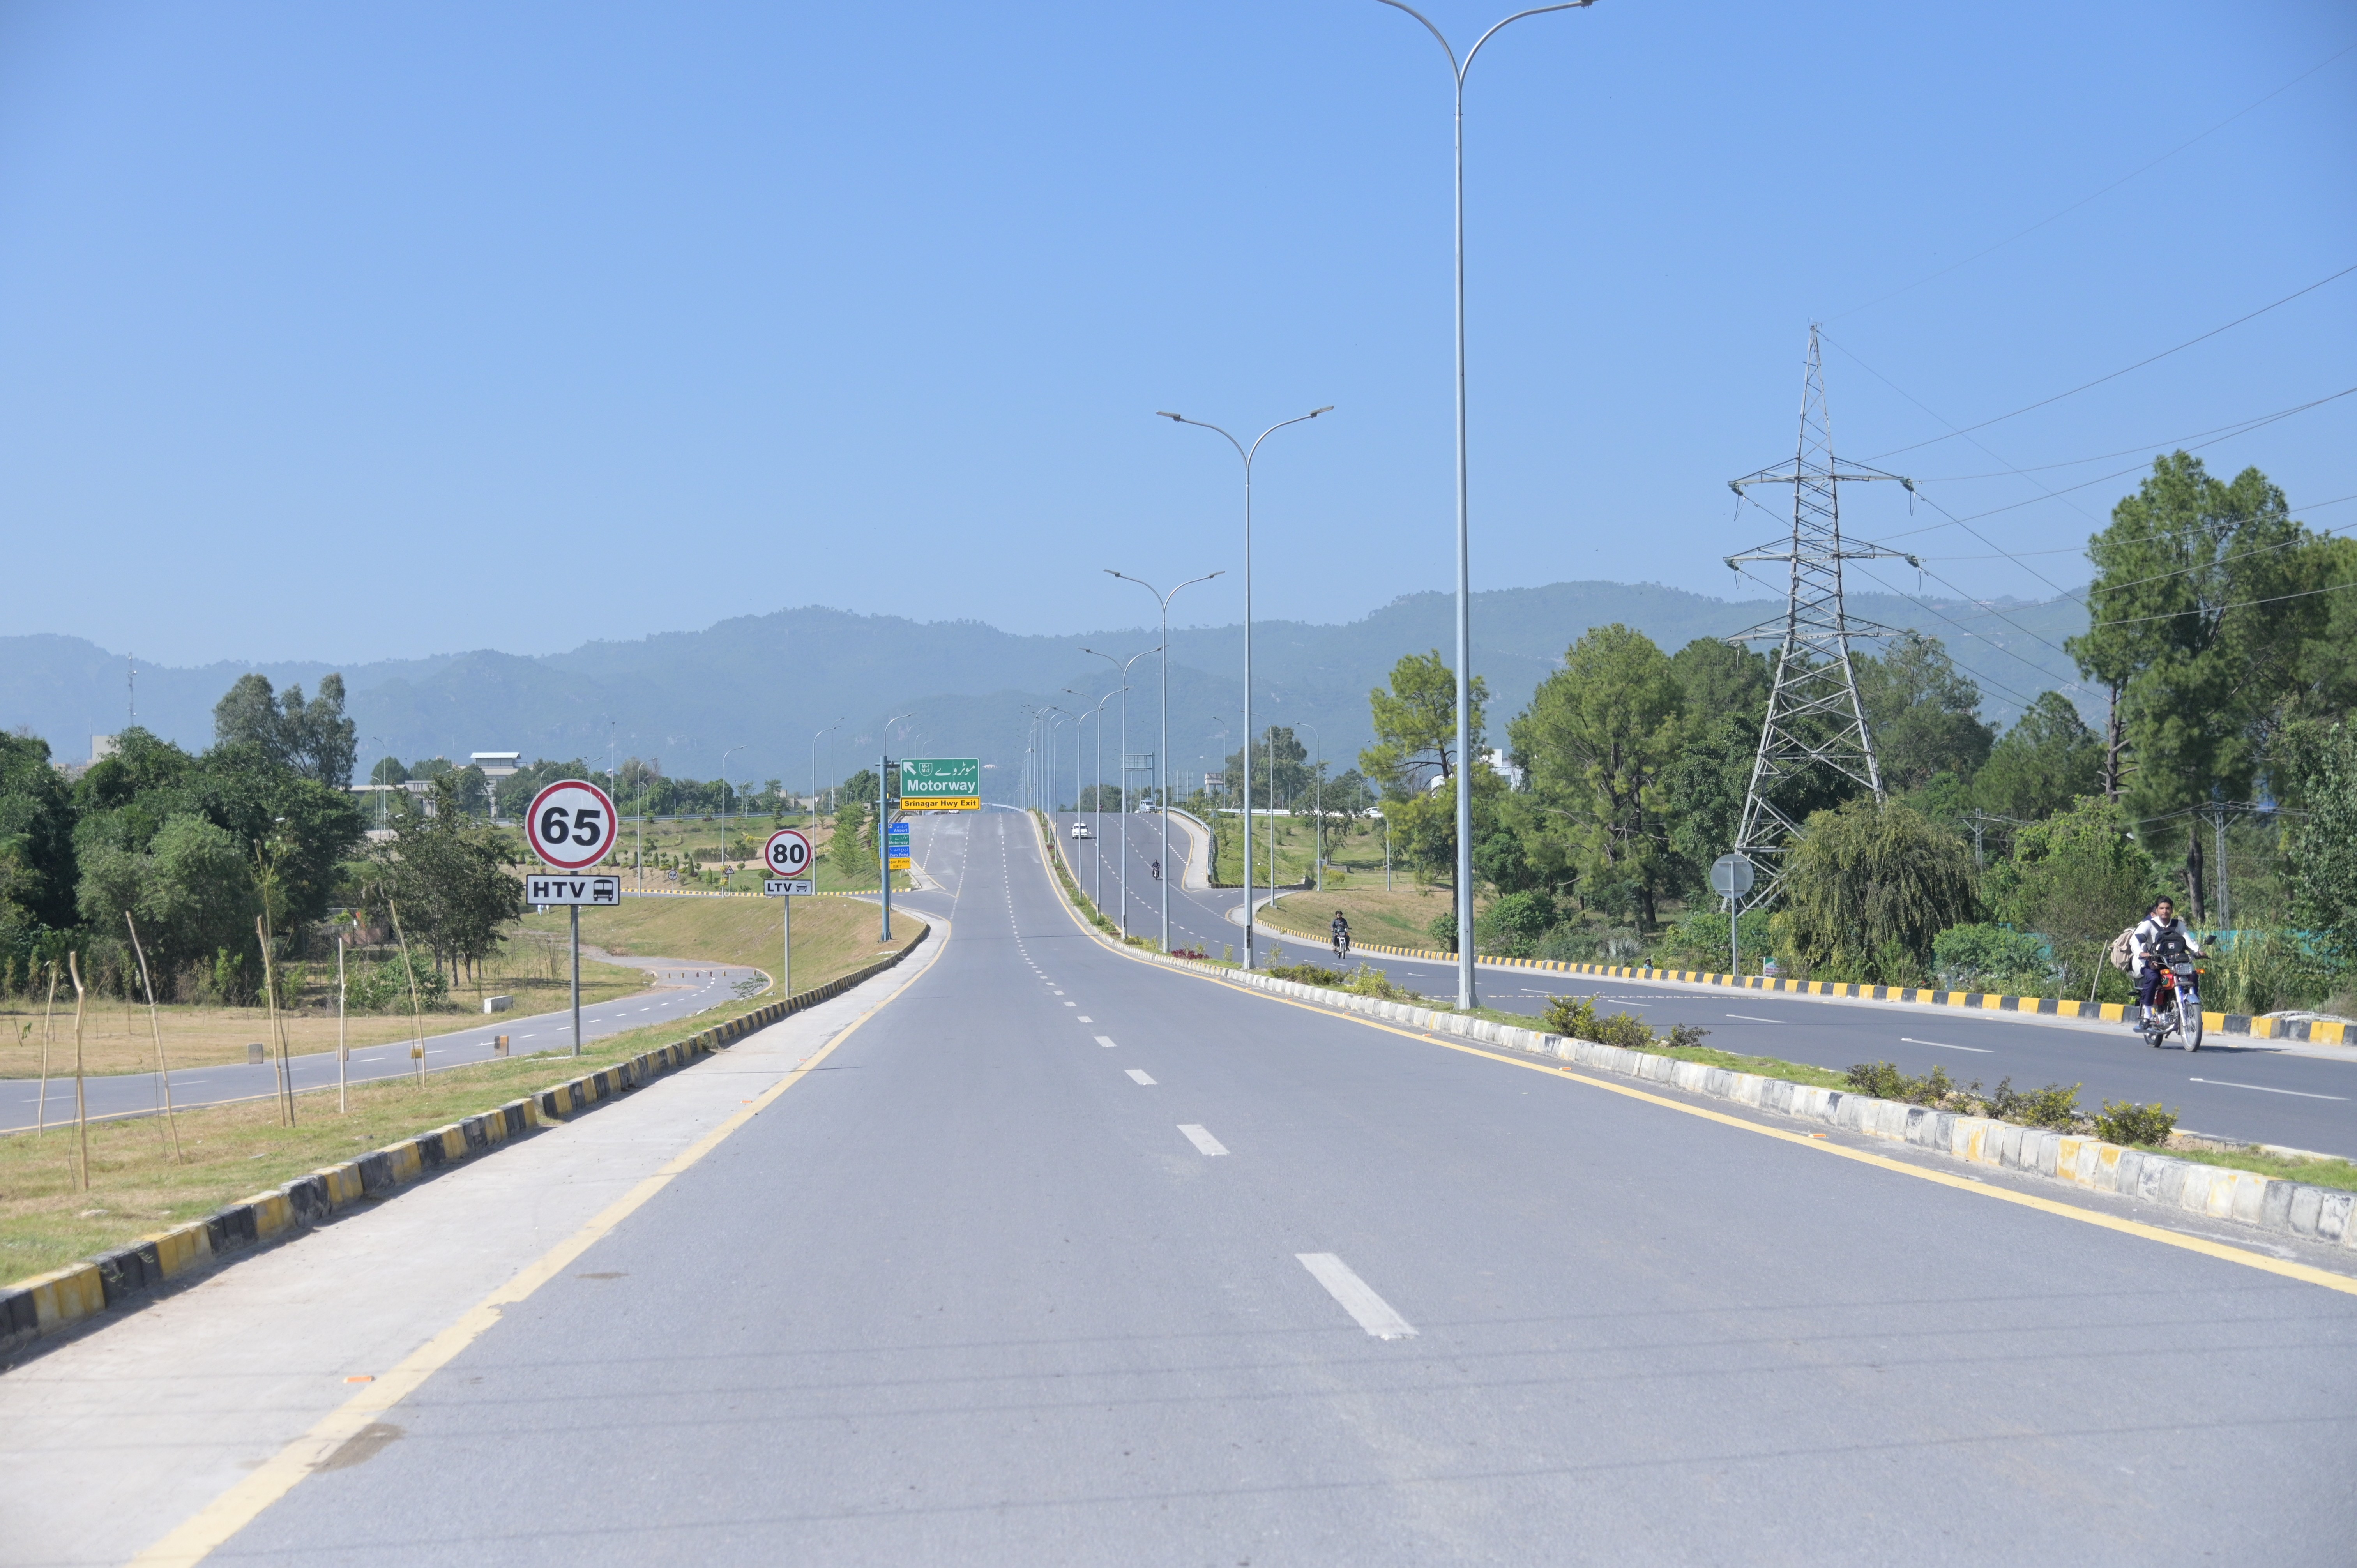
<path id="1" fill-rule="evenodd" d="M 926 946 L 596 1115 L 28 1356 L 0 1375 L 0 1563 L 134 1559 L 898 995 L 948 943 Z"/>

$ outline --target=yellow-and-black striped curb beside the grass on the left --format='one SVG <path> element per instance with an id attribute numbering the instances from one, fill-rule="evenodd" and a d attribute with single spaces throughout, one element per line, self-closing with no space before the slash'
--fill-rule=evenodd
<path id="1" fill-rule="evenodd" d="M 167 1283 L 231 1261 L 247 1247 L 306 1231 L 361 1203 L 391 1198 L 403 1186 L 445 1165 L 471 1160 L 540 1127 L 566 1122 L 627 1089 L 636 1089 L 712 1052 L 726 1049 L 778 1019 L 818 1007 L 853 986 L 872 981 L 915 953 L 929 934 L 931 927 L 919 920 L 917 936 L 905 948 L 837 976 L 825 986 L 799 990 L 780 1002 L 768 1002 L 726 1023 L 698 1030 L 686 1040 L 658 1045 L 610 1068 L 568 1078 L 561 1085 L 511 1099 L 481 1115 L 422 1132 L 415 1139 L 387 1144 L 358 1160 L 344 1160 L 342 1165 L 321 1167 L 309 1177 L 295 1177 L 269 1193 L 255 1193 L 203 1219 L 141 1236 L 127 1247 L 115 1247 L 113 1252 L 5 1285 L 0 1287 L 0 1351 L 82 1323 L 118 1302 L 156 1294 Z"/>

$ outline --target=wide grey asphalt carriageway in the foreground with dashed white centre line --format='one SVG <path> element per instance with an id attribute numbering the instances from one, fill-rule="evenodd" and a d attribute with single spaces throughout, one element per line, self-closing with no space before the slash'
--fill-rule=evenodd
<path id="1" fill-rule="evenodd" d="M 1014 811 L 919 851 L 938 960 L 222 1561 L 2350 1559 L 2352 1294 L 1124 960 Z"/>

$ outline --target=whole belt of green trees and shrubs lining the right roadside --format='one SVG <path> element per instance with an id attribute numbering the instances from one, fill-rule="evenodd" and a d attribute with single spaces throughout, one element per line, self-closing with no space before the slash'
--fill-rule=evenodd
<path id="1" fill-rule="evenodd" d="M 2093 700 L 2036 693 L 1999 733 L 1940 639 L 1857 655 L 1886 799 L 1829 766 L 1777 785 L 1808 830 L 1777 908 L 1742 917 L 1744 971 L 2124 1002 L 2110 946 L 2166 894 L 2209 931 L 2213 1012 L 2357 1016 L 2357 599 L 2333 592 L 2357 582 L 2357 540 L 2293 519 L 2256 469 L 2225 481 L 2171 453 L 2088 556 L 2095 625 L 2069 653 Z M 1285 726 L 1254 736 L 1254 804 L 1299 813 L 1256 818 L 1275 882 L 1310 879 L 1315 842 L 1327 858 L 1325 896 L 1263 920 L 1322 941 L 1341 908 L 1360 941 L 1454 950 L 1471 766 L 1475 950 L 1723 971 L 1706 870 L 1735 842 L 1772 677 L 1770 653 L 1593 627 L 1504 733 L 1473 681 L 1468 759 L 1454 672 L 1409 653 L 1369 693 L 1376 743 L 1353 769 L 1320 769 Z M 1228 884 L 1244 766 L 1190 802 Z"/>

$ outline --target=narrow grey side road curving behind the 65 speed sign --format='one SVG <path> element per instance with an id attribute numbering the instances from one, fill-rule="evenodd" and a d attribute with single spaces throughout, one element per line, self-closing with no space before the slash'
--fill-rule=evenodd
<path id="1" fill-rule="evenodd" d="M 742 969 L 735 964 L 698 964 L 693 960 L 672 957 L 606 957 L 603 962 L 648 969 L 655 976 L 655 986 L 629 997 L 582 1007 L 585 1040 L 601 1040 L 627 1028 L 686 1019 L 688 1014 L 698 1014 L 740 995 L 740 988 L 747 983 L 768 983 L 768 976 L 759 969 Z M 490 1061 L 490 1047 L 497 1035 L 509 1037 L 509 1052 L 514 1056 L 573 1049 L 573 1012 L 542 1012 L 530 1016 L 493 1014 L 490 1021 L 478 1028 L 427 1035 L 427 1070 L 438 1073 L 441 1068 L 462 1068 L 474 1061 Z M 290 1061 L 290 1070 L 297 1094 L 332 1089 L 335 1052 L 295 1056 Z M 412 1061 L 408 1040 L 354 1047 L 351 1052 L 351 1082 L 405 1078 L 410 1070 Z M 82 1080 L 82 1092 L 90 1103 L 92 1120 L 156 1115 L 163 1111 L 163 1087 L 153 1073 L 108 1073 L 104 1078 L 87 1078 Z M 238 1061 L 179 1068 L 172 1073 L 172 1103 L 179 1111 L 189 1111 L 193 1106 L 219 1106 L 240 1099 L 269 1099 L 276 1092 L 276 1066 L 250 1066 Z M 0 1078 L 0 1132 L 26 1132 L 42 1120 L 47 1120 L 49 1127 L 73 1122 L 71 1056 L 68 1073 L 64 1078 L 49 1078 L 47 1111 L 42 1111 L 38 1078 Z"/>

